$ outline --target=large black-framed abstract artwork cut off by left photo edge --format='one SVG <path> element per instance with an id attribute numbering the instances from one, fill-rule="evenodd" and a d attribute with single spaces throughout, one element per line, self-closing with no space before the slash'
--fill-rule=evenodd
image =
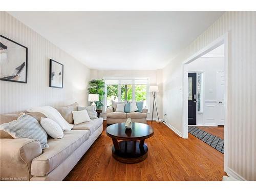
<path id="1" fill-rule="evenodd" d="M 0 35 L 0 79 L 27 83 L 28 48 Z"/>

